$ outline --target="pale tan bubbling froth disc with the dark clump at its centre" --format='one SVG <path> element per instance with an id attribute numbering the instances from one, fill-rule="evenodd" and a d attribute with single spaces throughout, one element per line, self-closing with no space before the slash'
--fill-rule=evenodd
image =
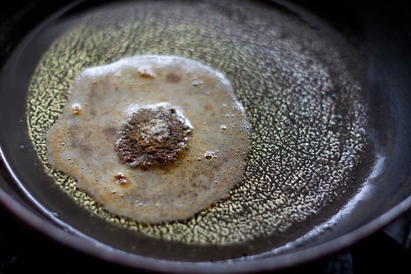
<path id="1" fill-rule="evenodd" d="M 142 55 L 83 71 L 47 150 L 110 212 L 161 223 L 226 198 L 245 171 L 248 138 L 247 116 L 221 73 Z"/>

